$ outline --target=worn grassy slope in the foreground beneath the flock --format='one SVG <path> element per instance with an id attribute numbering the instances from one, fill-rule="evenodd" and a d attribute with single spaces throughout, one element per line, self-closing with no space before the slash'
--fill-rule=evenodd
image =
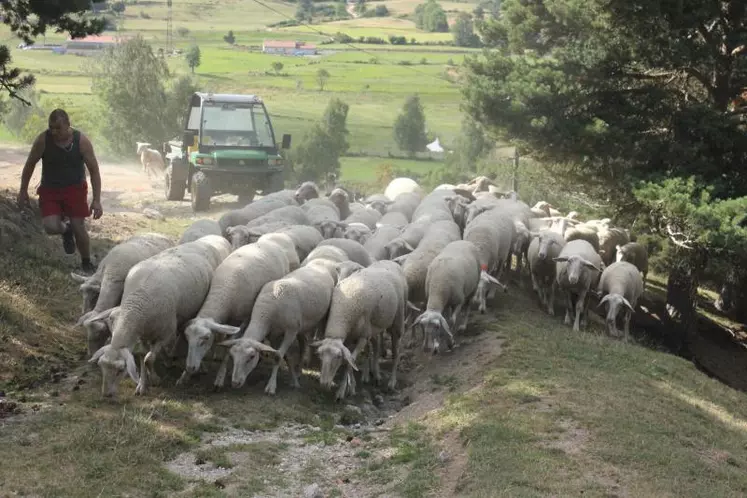
<path id="1" fill-rule="evenodd" d="M 0 198 L 4 216 L 21 223 L 11 202 Z M 356 497 L 747 491 L 743 393 L 595 322 L 573 333 L 519 289 L 473 315 L 454 352 L 408 354 L 399 393 L 349 400 L 362 419 L 318 389 L 313 369 L 299 391 L 281 371 L 266 396 L 266 364 L 238 391 L 212 392 L 212 374 L 176 388 L 173 370 L 144 398 L 124 381 L 119 400 L 103 401 L 70 325 L 72 260 L 24 223 L 3 232 L 13 257 L 0 268 L 2 496 L 299 496 L 312 483 Z M 188 223 L 110 215 L 94 244 Z"/>

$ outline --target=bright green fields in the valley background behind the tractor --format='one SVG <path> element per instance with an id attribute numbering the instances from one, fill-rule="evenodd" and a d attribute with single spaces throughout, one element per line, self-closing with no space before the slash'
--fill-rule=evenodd
<path id="1" fill-rule="evenodd" d="M 460 92 L 451 78 L 464 57 L 475 51 L 445 45 L 353 43 L 351 47 L 329 41 L 337 32 L 356 39 L 360 36 L 388 39 L 389 35 L 397 35 L 407 37 L 408 41 L 415 38 L 420 43 L 451 40 L 450 33 L 422 32 L 412 21 L 397 17 L 411 13 L 417 4 L 397 0 L 387 3 L 394 17 L 316 23 L 310 29 L 304 26 L 267 28 L 268 24 L 293 17 L 295 5 L 290 3 L 267 2 L 270 10 L 251 0 L 179 1 L 173 7 L 174 45 L 182 50 L 192 44 L 200 46 L 202 63 L 195 75 L 201 89 L 262 96 L 276 132 L 278 135 L 291 133 L 294 144 L 299 143 L 308 126 L 321 117 L 327 102 L 337 97 L 350 105 L 351 153 L 401 156 L 394 142 L 392 124 L 407 96 L 414 92 L 423 102 L 428 133 L 437 136 L 446 146 L 455 138 L 461 121 Z M 444 8 L 451 17 L 453 12 L 471 10 L 474 5 L 449 2 Z M 158 49 L 166 42 L 165 18 L 165 2 L 127 3 L 124 15 L 118 20 L 118 34 L 141 35 Z M 208 18 L 210 21 L 205 21 Z M 233 30 L 236 37 L 233 47 L 223 40 L 228 30 Z M 13 64 L 36 75 L 37 87 L 45 97 L 65 98 L 73 108 L 90 106 L 91 81 L 85 70 L 87 58 L 20 50 L 16 48 L 18 40 L 5 26 L 0 29 L 0 37 L 11 48 Z M 64 39 L 50 33 L 45 41 L 60 43 Z M 263 54 L 261 46 L 268 39 L 316 43 L 320 54 L 308 57 Z M 272 71 L 272 63 L 276 61 L 283 63 L 279 74 Z M 176 74 L 189 71 L 183 56 L 169 58 L 169 66 Z M 315 78 L 320 68 L 331 75 L 324 91 L 319 89 Z M 394 159 L 390 162 L 396 167 L 408 167 L 406 161 Z M 361 174 L 360 169 L 350 173 L 343 171 L 343 176 L 375 176 L 373 172 Z"/>

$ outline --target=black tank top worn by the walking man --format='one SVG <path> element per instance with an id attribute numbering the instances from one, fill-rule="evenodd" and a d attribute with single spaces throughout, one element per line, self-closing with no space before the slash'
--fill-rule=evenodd
<path id="1" fill-rule="evenodd" d="M 55 144 L 49 130 L 46 131 L 44 140 L 41 186 L 61 188 L 83 183 L 86 179 L 86 169 L 83 154 L 80 152 L 80 132 L 73 130 L 70 150 Z"/>

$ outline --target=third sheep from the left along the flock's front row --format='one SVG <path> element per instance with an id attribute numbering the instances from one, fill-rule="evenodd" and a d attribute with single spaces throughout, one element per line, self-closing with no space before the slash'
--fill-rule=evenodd
<path id="1" fill-rule="evenodd" d="M 266 283 L 292 271 L 284 247 L 264 239 L 271 235 L 276 234 L 264 235 L 256 244 L 236 249 L 215 269 L 202 307 L 184 329 L 189 349 L 177 384 L 197 372 L 216 334 L 235 334 L 236 326 L 251 316 L 254 301 Z M 297 262 L 295 252 L 293 255 Z"/>

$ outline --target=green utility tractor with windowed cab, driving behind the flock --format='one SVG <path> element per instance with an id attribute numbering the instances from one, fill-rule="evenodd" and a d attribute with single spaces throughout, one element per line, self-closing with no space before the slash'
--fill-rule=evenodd
<path id="1" fill-rule="evenodd" d="M 255 95 L 197 92 L 190 98 L 182 139 L 163 145 L 166 199 L 181 201 L 188 190 L 194 212 L 207 211 L 210 198 L 234 194 L 251 202 L 282 190 L 283 158 L 290 135 L 275 143 L 270 116 Z M 170 149 L 170 150 L 169 150 Z"/>

